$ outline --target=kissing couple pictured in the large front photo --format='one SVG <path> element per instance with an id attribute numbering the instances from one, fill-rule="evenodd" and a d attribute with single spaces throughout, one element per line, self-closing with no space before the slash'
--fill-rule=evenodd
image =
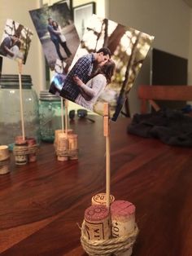
<path id="1" fill-rule="evenodd" d="M 63 82 L 60 95 L 91 111 L 115 72 L 111 51 L 101 48 L 82 56 Z"/>

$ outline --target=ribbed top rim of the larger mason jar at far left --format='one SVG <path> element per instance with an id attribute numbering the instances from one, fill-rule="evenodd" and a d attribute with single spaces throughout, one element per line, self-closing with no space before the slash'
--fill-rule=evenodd
<path id="1" fill-rule="evenodd" d="M 21 75 L 21 82 L 23 89 L 31 89 L 31 86 L 33 86 L 30 75 Z M 19 87 L 19 75 L 2 74 L 2 77 L 0 78 L 0 88 L 19 89 Z"/>

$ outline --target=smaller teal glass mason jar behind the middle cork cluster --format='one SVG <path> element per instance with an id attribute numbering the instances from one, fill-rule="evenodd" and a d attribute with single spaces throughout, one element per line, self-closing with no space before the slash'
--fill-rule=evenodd
<path id="1" fill-rule="evenodd" d="M 54 142 L 55 130 L 62 127 L 61 99 L 63 98 L 52 95 L 46 90 L 40 92 L 39 116 L 42 141 Z"/>

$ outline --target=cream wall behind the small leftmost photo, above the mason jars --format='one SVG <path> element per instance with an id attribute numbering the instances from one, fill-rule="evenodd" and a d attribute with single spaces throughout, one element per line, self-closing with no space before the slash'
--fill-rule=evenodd
<path id="1" fill-rule="evenodd" d="M 15 20 L 28 29 L 33 30 L 32 43 L 29 49 L 28 59 L 23 66 L 23 73 L 32 76 L 33 85 L 37 93 L 39 90 L 43 90 L 45 86 L 45 64 L 44 55 L 41 51 L 41 43 L 37 38 L 37 33 L 28 11 L 39 8 L 39 3 L 39 0 L 1 0 L 0 2 L 0 40 L 7 19 Z M 14 60 L 9 60 L 6 57 L 3 58 L 2 74 L 3 73 L 18 73 L 18 64 Z"/>

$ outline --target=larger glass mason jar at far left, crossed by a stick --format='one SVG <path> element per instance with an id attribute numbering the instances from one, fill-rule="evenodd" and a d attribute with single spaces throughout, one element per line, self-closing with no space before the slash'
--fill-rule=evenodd
<path id="1" fill-rule="evenodd" d="M 26 137 L 40 141 L 38 98 L 31 76 L 22 75 L 24 132 Z M 18 75 L 2 75 L 0 79 L 0 144 L 12 149 L 15 137 L 22 135 L 20 117 L 20 84 Z"/>

